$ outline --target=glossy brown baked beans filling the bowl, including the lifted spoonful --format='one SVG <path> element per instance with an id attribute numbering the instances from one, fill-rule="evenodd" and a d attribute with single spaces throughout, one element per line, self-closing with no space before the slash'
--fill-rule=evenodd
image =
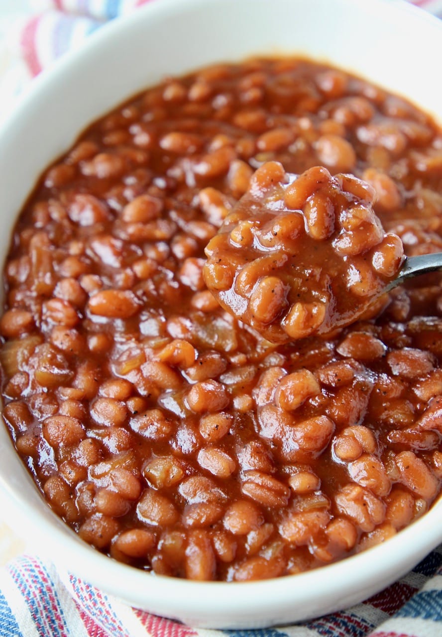
<path id="1" fill-rule="evenodd" d="M 126 564 L 227 581 L 422 515 L 442 480 L 441 275 L 321 326 L 333 299 L 378 294 L 402 245 L 442 249 L 441 149 L 425 113 L 301 59 L 169 78 L 90 126 L 4 267 L 3 417 L 53 511 Z"/>

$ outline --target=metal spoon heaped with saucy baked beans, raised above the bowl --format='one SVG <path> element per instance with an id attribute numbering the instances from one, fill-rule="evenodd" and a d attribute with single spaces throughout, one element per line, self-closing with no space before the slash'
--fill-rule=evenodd
<path id="1" fill-rule="evenodd" d="M 274 343 L 375 316 L 393 287 L 442 269 L 442 253 L 405 257 L 374 197 L 352 175 L 320 166 L 289 175 L 279 162 L 262 164 L 206 247 L 208 289 Z"/>

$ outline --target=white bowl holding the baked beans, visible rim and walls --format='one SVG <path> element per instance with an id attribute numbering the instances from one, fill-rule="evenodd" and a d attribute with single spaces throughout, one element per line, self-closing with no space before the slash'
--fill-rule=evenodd
<path id="1" fill-rule="evenodd" d="M 0 131 L 0 257 L 43 169 L 94 119 L 158 82 L 255 54 L 329 61 L 442 119 L 442 25 L 381 0 L 161 0 L 104 27 L 38 78 Z M 442 541 L 442 501 L 383 545 L 310 573 L 250 583 L 189 582 L 138 571 L 80 540 L 46 506 L 0 427 L 0 485 L 10 523 L 61 569 L 192 626 L 289 624 L 345 608 L 404 575 Z"/>

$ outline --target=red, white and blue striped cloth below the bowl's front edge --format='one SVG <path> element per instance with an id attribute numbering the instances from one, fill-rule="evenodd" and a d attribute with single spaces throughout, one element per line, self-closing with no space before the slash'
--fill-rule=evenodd
<path id="1" fill-rule="evenodd" d="M 441 637 L 442 547 L 362 604 L 299 626 L 196 629 L 130 608 L 36 557 L 0 574 L 2 637 Z"/>

